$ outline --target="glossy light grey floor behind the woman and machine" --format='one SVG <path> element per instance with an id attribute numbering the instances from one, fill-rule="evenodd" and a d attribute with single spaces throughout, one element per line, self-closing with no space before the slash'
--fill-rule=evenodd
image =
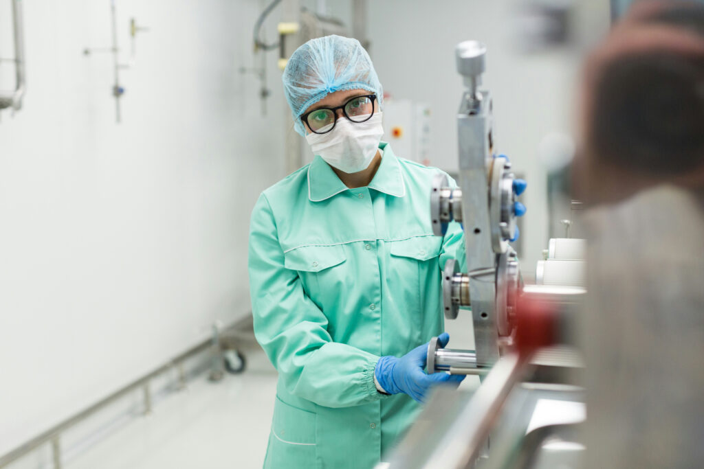
<path id="1" fill-rule="evenodd" d="M 473 349 L 471 315 L 448 321 L 448 347 Z M 241 375 L 220 383 L 203 375 L 66 461 L 66 469 L 261 468 L 276 394 L 276 371 L 260 349 L 245 351 Z M 470 376 L 461 388 L 478 385 Z"/>

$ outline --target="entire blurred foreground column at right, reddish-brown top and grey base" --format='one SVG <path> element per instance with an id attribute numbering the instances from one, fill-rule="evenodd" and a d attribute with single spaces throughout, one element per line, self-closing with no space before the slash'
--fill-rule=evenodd
<path id="1" fill-rule="evenodd" d="M 700 467 L 704 6 L 634 5 L 582 91 L 586 467 Z"/>

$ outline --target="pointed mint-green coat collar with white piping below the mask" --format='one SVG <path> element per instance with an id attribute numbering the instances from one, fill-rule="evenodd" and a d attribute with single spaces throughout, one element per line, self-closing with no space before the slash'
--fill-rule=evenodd
<path id="1" fill-rule="evenodd" d="M 406 184 L 403 182 L 401 162 L 389 143 L 380 142 L 379 150 L 382 150 L 382 162 L 367 187 L 394 197 L 403 197 L 406 195 Z M 311 202 L 321 202 L 348 190 L 332 167 L 316 155 L 308 166 L 308 199 Z"/>

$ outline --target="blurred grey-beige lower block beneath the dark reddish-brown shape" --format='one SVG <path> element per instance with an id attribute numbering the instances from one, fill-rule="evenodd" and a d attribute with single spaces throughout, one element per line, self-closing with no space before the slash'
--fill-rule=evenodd
<path id="1" fill-rule="evenodd" d="M 674 186 L 585 216 L 589 468 L 704 461 L 704 197 Z"/>

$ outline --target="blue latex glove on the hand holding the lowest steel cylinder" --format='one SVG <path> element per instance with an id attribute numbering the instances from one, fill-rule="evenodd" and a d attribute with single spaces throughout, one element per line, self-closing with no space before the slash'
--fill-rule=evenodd
<path id="1" fill-rule="evenodd" d="M 448 333 L 438 337 L 442 347 L 450 341 Z M 465 379 L 465 375 L 448 375 L 447 373 L 425 373 L 428 345 L 420 345 L 400 359 L 396 356 L 382 356 L 377 362 L 374 374 L 386 392 L 398 394 L 403 392 L 418 402 L 425 401 L 430 387 L 438 383 L 455 383 Z"/>

